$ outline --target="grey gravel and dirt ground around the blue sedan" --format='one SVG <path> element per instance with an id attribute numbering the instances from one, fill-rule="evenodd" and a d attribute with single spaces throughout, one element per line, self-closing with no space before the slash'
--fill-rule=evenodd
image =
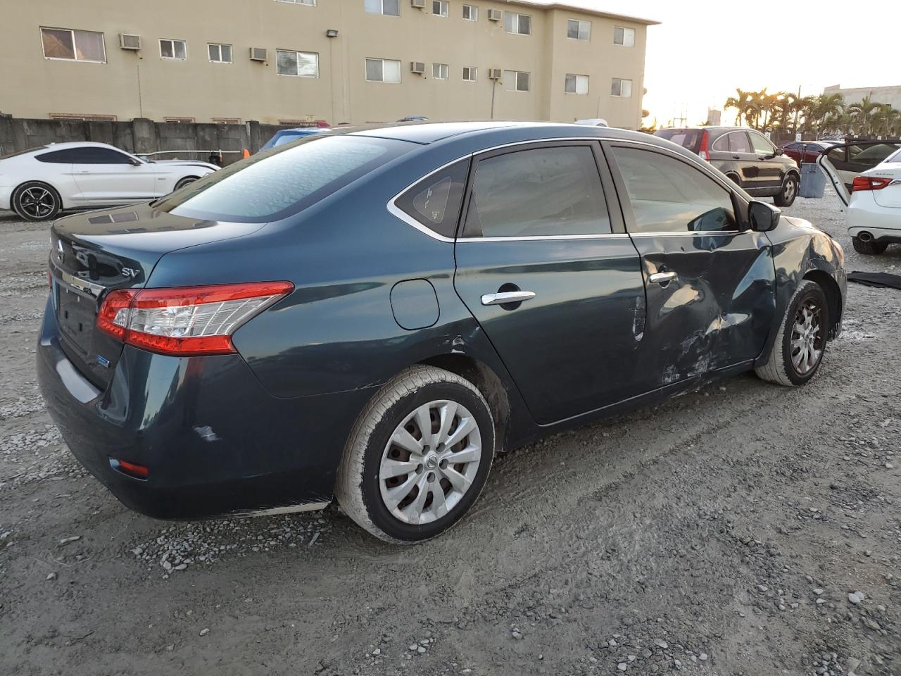
<path id="1" fill-rule="evenodd" d="M 787 209 L 851 249 L 835 196 Z M 44 411 L 48 226 L 0 214 L 0 673 L 899 674 L 901 291 L 806 388 L 752 375 L 506 453 L 397 548 L 335 507 L 138 516 Z"/>

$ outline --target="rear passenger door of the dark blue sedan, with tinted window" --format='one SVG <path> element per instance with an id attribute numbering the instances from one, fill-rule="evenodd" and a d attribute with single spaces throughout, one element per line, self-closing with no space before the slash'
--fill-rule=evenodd
<path id="1" fill-rule="evenodd" d="M 470 172 L 454 285 L 542 425 L 640 393 L 642 271 L 599 153 L 517 146 Z"/>

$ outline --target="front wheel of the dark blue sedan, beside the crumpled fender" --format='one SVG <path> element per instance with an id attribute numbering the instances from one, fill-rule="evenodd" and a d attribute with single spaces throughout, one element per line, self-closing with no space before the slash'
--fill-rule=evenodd
<path id="1" fill-rule="evenodd" d="M 802 308 L 810 311 L 815 307 L 815 327 L 812 328 L 810 337 L 805 339 L 805 334 L 796 330 L 801 325 L 804 314 Z M 810 279 L 803 280 L 796 288 L 795 294 L 788 302 L 779 333 L 769 352 L 769 361 L 754 371 L 760 379 L 777 385 L 787 387 L 805 385 L 816 375 L 823 363 L 823 355 L 826 351 L 826 341 L 829 334 L 829 303 L 826 294 L 819 284 Z M 799 344 L 801 345 L 799 347 Z M 804 346 L 809 347 L 807 352 L 812 359 L 804 358 Z M 797 352 L 796 352 L 797 351 Z M 793 360 L 800 358 L 800 365 Z"/>

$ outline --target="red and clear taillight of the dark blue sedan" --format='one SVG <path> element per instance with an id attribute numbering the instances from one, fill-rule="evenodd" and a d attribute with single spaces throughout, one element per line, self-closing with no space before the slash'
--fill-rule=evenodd
<path id="1" fill-rule="evenodd" d="M 160 354 L 235 352 L 232 333 L 294 289 L 291 282 L 111 291 L 97 328 L 123 343 Z"/>

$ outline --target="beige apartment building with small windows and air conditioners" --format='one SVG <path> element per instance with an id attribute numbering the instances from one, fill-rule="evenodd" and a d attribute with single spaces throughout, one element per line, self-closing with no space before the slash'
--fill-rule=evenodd
<path id="1" fill-rule="evenodd" d="M 0 112 L 636 129 L 653 23 L 524 0 L 31 0 L 0 29 Z"/>

